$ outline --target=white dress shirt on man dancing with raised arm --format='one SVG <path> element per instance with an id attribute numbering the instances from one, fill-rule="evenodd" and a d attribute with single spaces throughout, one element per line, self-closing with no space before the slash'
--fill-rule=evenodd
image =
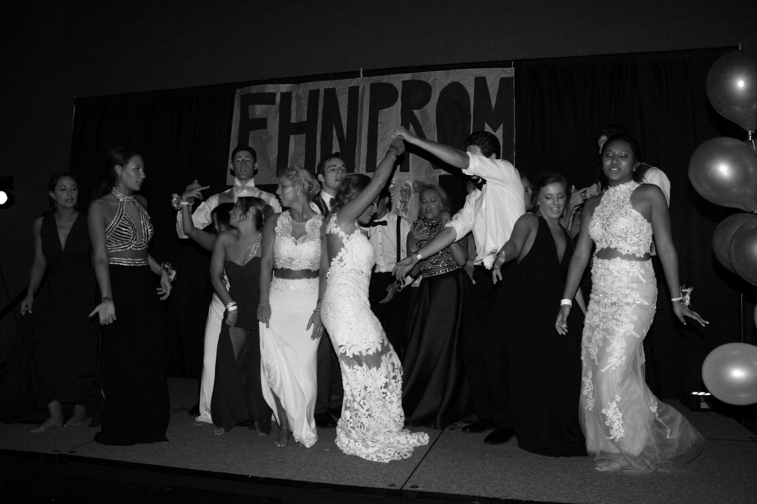
<path id="1" fill-rule="evenodd" d="M 466 197 L 466 204 L 447 224 L 462 240 L 473 231 L 475 264 L 491 269 L 494 257 L 510 238 L 512 227 L 525 214 L 523 184 L 515 166 L 504 159 L 468 153 L 470 165 L 466 175 L 476 175 L 486 181 L 483 190 L 475 189 Z M 484 259 L 491 256 L 491 261 Z"/>

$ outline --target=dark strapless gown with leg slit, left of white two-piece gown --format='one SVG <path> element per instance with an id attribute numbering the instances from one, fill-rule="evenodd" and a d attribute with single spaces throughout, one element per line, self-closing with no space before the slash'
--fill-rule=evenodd
<path id="1" fill-rule="evenodd" d="M 245 348 L 234 360 L 234 347 L 224 322 L 218 338 L 216 353 L 216 379 L 210 400 L 210 416 L 213 423 L 228 432 L 235 425 L 257 427 L 264 434 L 271 431 L 271 414 L 260 376 L 260 331 L 257 321 L 257 305 L 260 302 L 260 257 L 251 258 L 244 266 L 233 261 L 224 261 L 223 268 L 229 277 L 229 295 L 238 308 L 235 327 L 248 332 Z"/>

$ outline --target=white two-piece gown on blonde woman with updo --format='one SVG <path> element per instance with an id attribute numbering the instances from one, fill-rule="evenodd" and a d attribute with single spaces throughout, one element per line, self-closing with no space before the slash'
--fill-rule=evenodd
<path id="1" fill-rule="evenodd" d="M 319 269 L 322 216 L 305 224 L 299 239 L 291 236 L 289 211 L 279 215 L 273 261 L 290 270 Z M 273 277 L 269 290 L 271 318 L 260 323 L 260 373 L 263 397 L 282 424 L 274 394 L 279 397 L 294 441 L 311 447 L 318 441 L 313 413 L 316 409 L 316 369 L 319 339 L 310 339 L 307 322 L 318 301 L 318 278 L 290 280 Z"/>

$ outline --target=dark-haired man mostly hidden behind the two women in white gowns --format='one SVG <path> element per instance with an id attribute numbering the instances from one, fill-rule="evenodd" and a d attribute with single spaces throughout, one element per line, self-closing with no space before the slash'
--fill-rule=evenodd
<path id="1" fill-rule="evenodd" d="M 347 165 L 338 152 L 329 154 L 318 163 L 316 174 L 321 183 L 321 192 L 315 197 L 313 203 L 318 206 L 322 215 L 327 215 L 334 205 L 341 179 L 346 173 Z M 339 415 L 338 408 L 341 407 L 341 397 L 344 392 L 341 388 L 339 361 L 329 335 L 324 334 L 318 345 L 317 366 L 316 425 L 320 428 L 336 427 L 332 412 L 336 416 Z"/>

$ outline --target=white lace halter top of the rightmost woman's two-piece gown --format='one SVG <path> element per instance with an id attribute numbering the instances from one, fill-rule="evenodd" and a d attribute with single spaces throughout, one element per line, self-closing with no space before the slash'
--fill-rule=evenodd
<path id="1" fill-rule="evenodd" d="M 609 187 L 602 194 L 589 224 L 589 236 L 601 249 L 643 257 L 650 252 L 652 224 L 631 206 L 631 193 L 640 184 L 631 181 Z"/>

